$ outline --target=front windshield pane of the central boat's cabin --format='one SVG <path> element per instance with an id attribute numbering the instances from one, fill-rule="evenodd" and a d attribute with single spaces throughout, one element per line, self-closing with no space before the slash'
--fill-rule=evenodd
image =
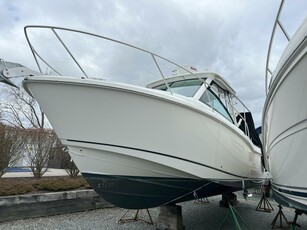
<path id="1" fill-rule="evenodd" d="M 200 88 L 200 86 L 203 84 L 203 81 L 200 79 L 190 79 L 170 82 L 168 84 L 172 93 L 177 93 L 186 97 L 193 97 Z M 154 89 L 168 91 L 166 85 L 164 84 L 154 87 Z"/>

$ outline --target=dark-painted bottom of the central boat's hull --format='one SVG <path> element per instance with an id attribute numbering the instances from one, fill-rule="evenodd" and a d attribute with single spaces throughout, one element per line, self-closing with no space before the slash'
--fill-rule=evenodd
<path id="1" fill-rule="evenodd" d="M 158 207 L 239 190 L 206 179 L 82 175 L 105 200 L 127 209 Z"/>

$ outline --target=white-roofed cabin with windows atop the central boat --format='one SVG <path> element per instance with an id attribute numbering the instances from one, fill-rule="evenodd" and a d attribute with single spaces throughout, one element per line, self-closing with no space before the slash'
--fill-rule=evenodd
<path id="1" fill-rule="evenodd" d="M 180 74 L 150 83 L 147 88 L 201 101 L 241 129 L 255 145 L 262 147 L 251 113 L 225 79 L 212 72 Z"/>

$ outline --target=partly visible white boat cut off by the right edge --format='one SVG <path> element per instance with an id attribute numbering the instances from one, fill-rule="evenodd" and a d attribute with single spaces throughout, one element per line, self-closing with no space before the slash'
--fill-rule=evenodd
<path id="1" fill-rule="evenodd" d="M 279 9 L 269 46 L 268 62 Z M 282 27 L 283 31 L 284 28 Z M 285 33 L 286 37 L 289 37 Z M 265 161 L 280 204 L 307 211 L 307 19 L 289 38 L 271 75 L 263 109 Z M 267 71 L 269 73 L 271 71 Z M 267 82 L 268 82 L 268 78 Z"/>

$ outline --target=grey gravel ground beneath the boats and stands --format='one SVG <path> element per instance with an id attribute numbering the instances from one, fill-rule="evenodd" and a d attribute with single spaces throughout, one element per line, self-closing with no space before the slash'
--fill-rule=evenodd
<path id="1" fill-rule="evenodd" d="M 256 212 L 255 209 L 260 198 L 260 196 L 254 195 L 253 198 L 249 198 L 245 201 L 242 199 L 242 196 L 238 194 L 239 203 L 236 210 L 244 218 L 250 229 L 271 229 L 270 224 L 278 211 L 277 203 L 270 200 L 275 209 L 271 213 Z M 219 229 L 228 212 L 228 209 L 219 207 L 220 199 L 221 196 L 210 197 L 210 203 L 208 204 L 198 204 L 194 202 L 179 204 L 182 206 L 183 222 L 186 230 Z M 153 222 L 157 223 L 159 209 L 154 208 L 149 209 L 149 211 Z M 293 220 L 293 209 L 283 208 L 283 211 L 288 220 Z M 144 221 L 136 222 L 127 220 L 121 224 L 117 223 L 125 212 L 126 210 L 121 208 L 97 209 L 88 212 L 0 223 L 0 229 L 156 229 L 155 225 L 147 224 Z M 132 218 L 134 213 L 135 211 L 131 210 L 126 216 Z M 149 220 L 145 210 L 140 210 L 139 216 L 143 219 Z M 307 229 L 307 216 L 299 216 L 298 224 L 301 225 L 301 228 L 297 229 Z M 247 229 L 242 224 L 241 227 L 242 229 Z M 235 229 L 235 225 L 233 224 L 233 221 L 228 218 L 222 229 Z"/>

